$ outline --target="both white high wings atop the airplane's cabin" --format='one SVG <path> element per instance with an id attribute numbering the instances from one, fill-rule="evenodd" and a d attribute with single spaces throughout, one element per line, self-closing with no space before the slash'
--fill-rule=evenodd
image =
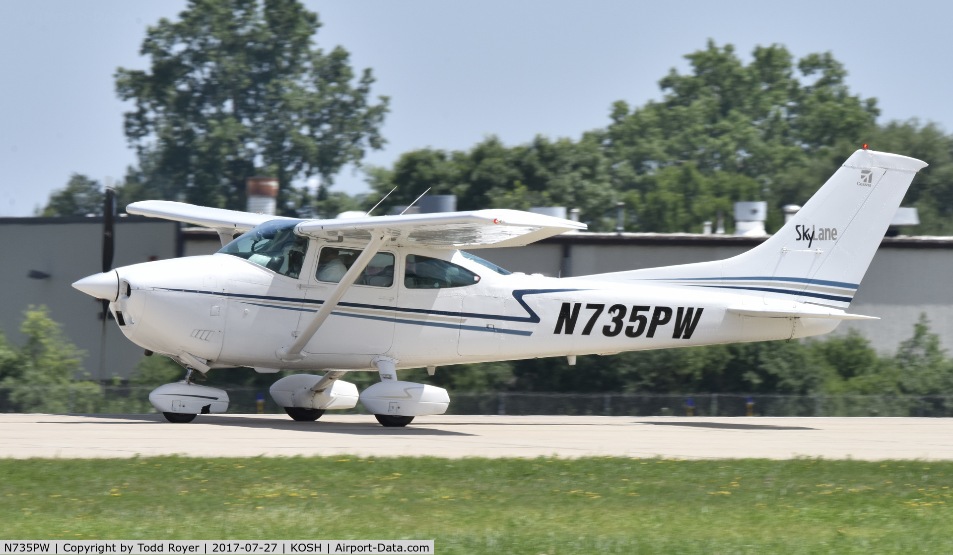
<path id="1" fill-rule="evenodd" d="M 126 207 L 126 211 L 131 214 L 213 228 L 222 236 L 223 242 L 226 237 L 231 237 L 236 232 L 248 231 L 271 220 L 294 220 L 294 218 L 282 216 L 197 207 L 171 201 L 140 201 Z M 371 232 L 377 229 L 402 244 L 426 248 L 490 248 L 529 245 L 565 231 L 585 228 L 585 224 L 562 218 L 499 208 L 467 212 L 303 220 L 298 224 L 297 232 L 332 241 L 342 239 L 369 241 Z"/>

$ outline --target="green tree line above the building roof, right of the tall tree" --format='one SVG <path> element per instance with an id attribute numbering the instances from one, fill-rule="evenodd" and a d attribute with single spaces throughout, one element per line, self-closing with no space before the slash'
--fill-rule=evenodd
<path id="1" fill-rule="evenodd" d="M 604 129 L 578 140 L 537 136 L 515 147 L 489 137 L 470 150 L 418 149 L 393 168 L 369 168 L 376 202 L 406 205 L 427 188 L 453 193 L 458 208 L 579 208 L 591 230 L 615 228 L 624 202 L 629 231 L 700 232 L 732 204 L 768 201 L 767 228 L 781 207 L 802 204 L 855 149 L 915 156 L 921 171 L 905 206 L 920 208 L 918 233 L 953 231 L 953 137 L 917 121 L 878 125 L 877 101 L 851 94 L 829 53 L 795 60 L 780 45 L 758 47 L 745 64 L 731 45 L 709 41 L 685 56 L 691 71 L 659 81 L 662 99 L 615 103 Z"/>

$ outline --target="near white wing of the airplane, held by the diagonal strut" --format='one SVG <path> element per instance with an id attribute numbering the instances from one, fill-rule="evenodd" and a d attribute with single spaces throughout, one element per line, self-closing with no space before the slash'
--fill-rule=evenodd
<path id="1" fill-rule="evenodd" d="M 429 248 L 520 247 L 585 224 L 519 210 L 484 209 L 468 212 L 404 214 L 340 220 L 309 220 L 297 231 L 323 239 L 368 240 L 379 229 L 406 245 Z"/>

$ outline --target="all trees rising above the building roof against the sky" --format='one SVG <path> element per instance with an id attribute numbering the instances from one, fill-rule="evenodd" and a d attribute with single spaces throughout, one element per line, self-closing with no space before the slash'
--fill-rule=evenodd
<path id="1" fill-rule="evenodd" d="M 768 201 L 767 228 L 781 207 L 802 204 L 862 143 L 921 158 L 904 206 L 920 208 L 921 234 L 953 234 L 953 136 L 936 124 L 877 123 L 875 98 L 852 94 L 830 52 L 796 60 L 781 45 L 757 47 L 745 63 L 709 41 L 686 55 L 691 70 L 659 81 L 662 99 L 616 102 L 610 123 L 578 140 L 537 136 L 506 146 L 490 136 L 469 150 L 416 149 L 391 168 L 365 166 L 368 195 L 329 192 L 335 173 L 384 144 L 388 99 L 370 103 L 374 79 L 355 82 L 340 47 L 314 48 L 316 14 L 294 0 L 193 0 L 181 20 L 150 28 L 150 71 L 119 69 L 121 98 L 135 103 L 126 133 L 139 153 L 119 187 L 120 205 L 146 198 L 244 207 L 244 180 L 276 175 L 286 215 L 334 217 L 410 204 L 427 188 L 456 194 L 459 209 L 579 208 L 592 230 L 700 232 L 732 204 Z M 316 195 L 293 182 L 319 175 Z M 97 213 L 99 184 L 73 175 L 44 215 Z M 906 230 L 910 231 L 910 230 Z"/>

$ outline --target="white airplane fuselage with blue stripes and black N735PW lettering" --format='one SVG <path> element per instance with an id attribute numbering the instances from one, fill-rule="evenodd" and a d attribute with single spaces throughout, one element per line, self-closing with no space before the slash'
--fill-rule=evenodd
<path id="1" fill-rule="evenodd" d="M 608 354 L 789 339 L 838 324 L 727 310 L 763 305 L 757 296 L 645 280 L 509 274 L 457 250 L 388 246 L 380 249 L 381 262 L 372 262 L 379 271 L 372 275 L 369 266 L 347 289 L 304 358 L 282 361 L 276 352 L 294 342 L 335 289 L 335 256 L 361 248 L 309 239 L 294 271 L 287 263 L 275 270 L 224 252 L 117 268 L 120 293 L 111 307 L 123 333 L 141 347 L 172 357 L 187 353 L 210 367 L 259 371 L 370 370 L 377 356 L 408 368 Z M 427 262 L 433 260 L 447 264 Z M 446 275 L 428 277 L 427 264 Z"/>

